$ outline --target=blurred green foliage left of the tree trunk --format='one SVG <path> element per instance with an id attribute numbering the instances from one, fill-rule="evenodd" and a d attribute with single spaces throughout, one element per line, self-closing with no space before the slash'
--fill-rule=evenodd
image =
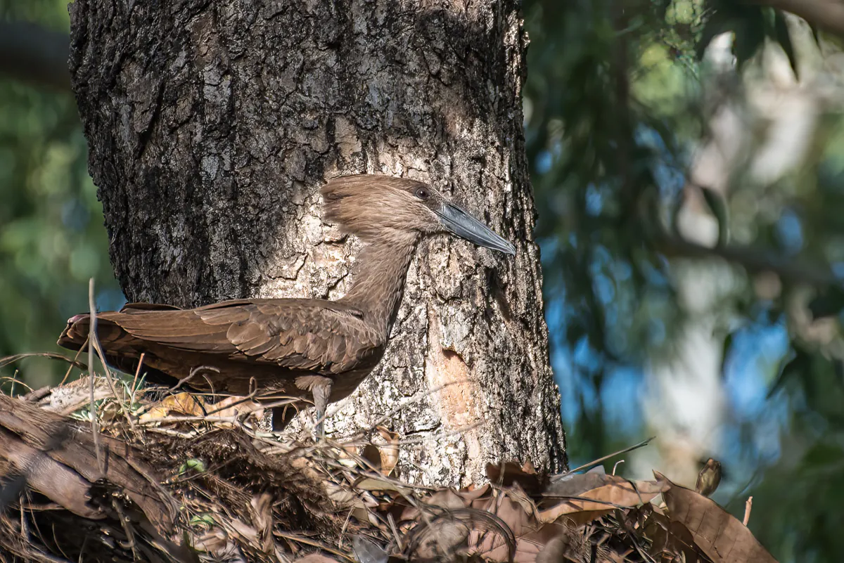
<path id="1" fill-rule="evenodd" d="M 0 19 L 69 29 L 55 0 L 7 0 Z M 58 351 L 65 320 L 88 309 L 90 277 L 100 303 L 121 299 L 73 94 L 0 78 L 0 201 L 0 357 Z M 35 387 L 65 372 L 46 360 L 20 367 Z"/>

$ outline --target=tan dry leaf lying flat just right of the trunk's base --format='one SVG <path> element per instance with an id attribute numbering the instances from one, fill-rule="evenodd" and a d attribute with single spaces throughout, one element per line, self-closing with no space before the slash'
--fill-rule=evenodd
<path id="1" fill-rule="evenodd" d="M 542 496 L 560 502 L 539 512 L 539 521 L 555 522 L 566 514 L 576 523 L 586 523 L 612 512 L 616 507 L 637 507 L 663 492 L 667 485 L 657 481 L 630 481 L 616 475 L 583 473 L 566 475 L 551 483 Z M 576 497 L 576 498 L 575 498 Z M 589 512 L 579 514 L 576 512 Z M 583 521 L 584 517 L 588 519 Z"/>

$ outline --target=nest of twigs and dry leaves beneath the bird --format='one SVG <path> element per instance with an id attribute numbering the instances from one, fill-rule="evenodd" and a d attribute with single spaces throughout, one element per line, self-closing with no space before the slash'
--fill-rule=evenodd
<path id="1" fill-rule="evenodd" d="M 656 473 L 511 462 L 460 491 L 421 487 L 392 476 L 403 446 L 385 428 L 377 445 L 315 443 L 262 432 L 246 399 L 91 383 L 0 395 L 0 559 L 773 561 L 743 523 Z"/>

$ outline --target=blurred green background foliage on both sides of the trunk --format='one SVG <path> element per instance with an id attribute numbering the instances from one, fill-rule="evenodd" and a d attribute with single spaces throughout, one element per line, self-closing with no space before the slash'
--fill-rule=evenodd
<path id="1" fill-rule="evenodd" d="M 713 102 L 701 87 L 710 72 L 702 47 L 729 30 L 746 72 L 766 41 L 802 68 L 782 13 L 759 5 L 526 0 L 524 9 L 526 138 L 542 210 L 547 318 L 555 367 L 570 379 L 562 385 L 569 452 L 585 461 L 642 437 L 643 367 L 670 353 L 685 320 L 660 242 L 675 234 L 667 232 L 671 214 L 693 148 L 706 137 Z M 68 28 L 62 0 L 0 0 L 0 18 Z M 706 202 L 722 223 L 722 243 L 732 236 L 841 274 L 842 180 L 844 127 L 827 111 L 799 169 L 771 185 L 738 174 L 726 201 L 708 194 Z M 53 350 L 64 320 L 87 309 L 90 276 L 101 308 L 122 299 L 71 94 L 0 77 L 0 198 L 0 355 Z M 734 384 L 729 366 L 751 365 L 763 389 L 755 402 L 736 401 L 725 421 L 717 454 L 733 499 L 716 498 L 740 513 L 754 495 L 750 528 L 782 563 L 844 552 L 844 369 L 830 348 L 841 340 L 844 291 L 826 287 L 809 303 L 830 321 L 824 342 L 791 322 L 790 300 L 801 291 L 783 281 L 781 292 L 760 297 L 744 276 L 719 304 L 732 319 L 723 334 L 725 385 Z"/>

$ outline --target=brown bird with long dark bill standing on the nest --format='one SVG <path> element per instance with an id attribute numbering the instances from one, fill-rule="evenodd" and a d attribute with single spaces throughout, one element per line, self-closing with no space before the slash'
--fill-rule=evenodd
<path id="1" fill-rule="evenodd" d="M 508 255 L 515 247 L 423 182 L 354 175 L 322 186 L 326 217 L 365 243 L 344 298 L 235 299 L 192 309 L 131 303 L 97 314 L 111 365 L 134 373 L 143 354 L 149 381 L 249 394 L 312 394 L 317 420 L 381 361 L 419 240 L 451 233 Z M 58 344 L 78 350 L 89 315 L 68 319 Z M 273 427 L 283 425 L 273 412 Z M 280 417 L 279 417 L 280 418 Z M 285 421 L 286 422 L 286 421 Z M 317 426 L 322 435 L 322 422 Z"/>

